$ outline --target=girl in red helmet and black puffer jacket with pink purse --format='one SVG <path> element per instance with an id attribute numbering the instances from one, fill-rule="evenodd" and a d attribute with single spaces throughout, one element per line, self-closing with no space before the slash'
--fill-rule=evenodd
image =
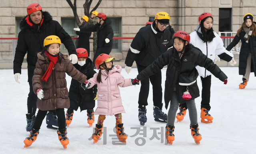
<path id="1" fill-rule="evenodd" d="M 164 101 L 165 107 L 168 108 L 170 102 L 170 109 L 168 112 L 168 120 L 166 124 L 166 139 L 169 144 L 174 141 L 174 121 L 179 104 L 187 102 L 190 129 L 192 137 L 197 144 L 200 144 L 202 139 L 201 134 L 198 133 L 198 122 L 195 98 L 200 96 L 197 86 L 196 78 L 198 72 L 196 66 L 201 66 L 210 71 L 216 78 L 226 84 L 228 82 L 227 76 L 214 64 L 210 58 L 207 58 L 201 50 L 194 47 L 190 42 L 190 36 L 184 31 L 178 31 L 173 36 L 174 47 L 167 50 L 164 54 L 158 57 L 150 66 L 140 72 L 137 80 L 143 80 L 160 71 L 168 64 L 166 70 L 166 82 Z M 136 79 L 134 79 L 136 81 Z M 190 96 L 191 95 L 191 96 Z M 190 97 L 187 97 L 190 96 Z"/>

